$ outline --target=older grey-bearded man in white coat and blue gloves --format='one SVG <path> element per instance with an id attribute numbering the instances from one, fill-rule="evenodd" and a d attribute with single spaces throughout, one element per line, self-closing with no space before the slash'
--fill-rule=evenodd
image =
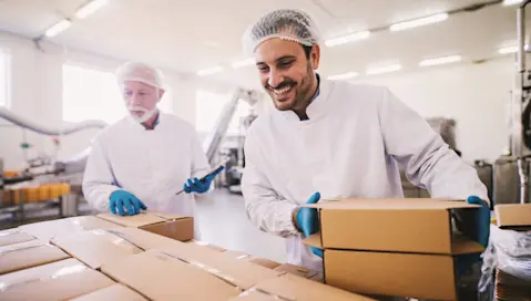
<path id="1" fill-rule="evenodd" d="M 160 71 L 126 63 L 116 80 L 129 115 L 94 139 L 83 177 L 85 199 L 122 216 L 146 208 L 194 216 L 192 193 L 206 193 L 223 168 L 197 179 L 210 169 L 206 155 L 191 124 L 157 108 L 164 95 Z M 185 194 L 176 195 L 183 186 Z"/>

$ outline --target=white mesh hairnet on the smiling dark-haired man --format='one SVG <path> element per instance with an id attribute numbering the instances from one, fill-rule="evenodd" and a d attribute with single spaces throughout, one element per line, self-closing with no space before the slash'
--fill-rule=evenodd
<path id="1" fill-rule="evenodd" d="M 320 42 L 320 32 L 312 17 L 300 10 L 279 9 L 267 12 L 252 24 L 243 37 L 246 54 L 254 53 L 262 42 L 279 38 L 312 46 Z"/>

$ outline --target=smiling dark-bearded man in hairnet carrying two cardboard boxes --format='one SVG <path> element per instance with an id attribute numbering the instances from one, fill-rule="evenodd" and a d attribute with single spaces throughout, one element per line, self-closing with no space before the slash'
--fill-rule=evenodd
<path id="1" fill-rule="evenodd" d="M 300 204 L 404 197 L 399 165 L 432 197 L 480 204 L 469 235 L 487 245 L 490 211 L 477 172 L 387 87 L 319 77 L 320 35 L 307 13 L 268 12 L 243 40 L 276 110 L 247 133 L 242 190 L 251 221 L 287 238 L 290 263 L 321 268 L 321 250 L 300 242 L 318 230 L 318 216 Z"/>

